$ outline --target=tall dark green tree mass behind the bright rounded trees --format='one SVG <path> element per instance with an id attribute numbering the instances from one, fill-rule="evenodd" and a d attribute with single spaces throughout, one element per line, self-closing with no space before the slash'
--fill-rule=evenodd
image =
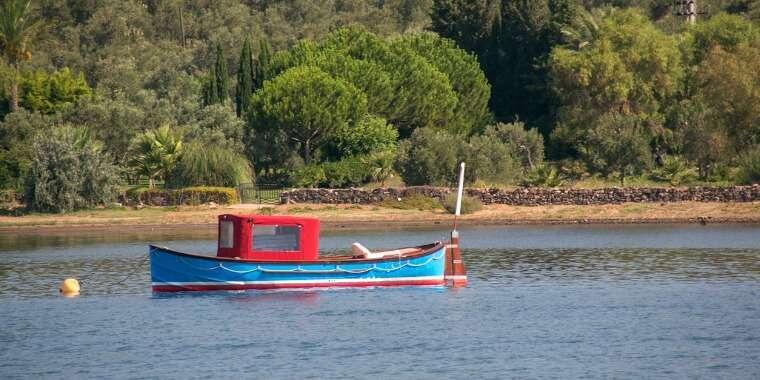
<path id="1" fill-rule="evenodd" d="M 496 118 L 516 117 L 548 135 L 555 100 L 546 61 L 575 18 L 572 0 L 436 0 L 432 27 L 477 55 Z"/>

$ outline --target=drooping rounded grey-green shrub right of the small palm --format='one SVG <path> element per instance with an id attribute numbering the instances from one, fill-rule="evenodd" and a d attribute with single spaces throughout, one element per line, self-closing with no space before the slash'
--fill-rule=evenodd
<path id="1" fill-rule="evenodd" d="M 172 187 L 235 187 L 253 182 L 248 160 L 223 145 L 198 142 L 185 145 L 171 175 Z"/>

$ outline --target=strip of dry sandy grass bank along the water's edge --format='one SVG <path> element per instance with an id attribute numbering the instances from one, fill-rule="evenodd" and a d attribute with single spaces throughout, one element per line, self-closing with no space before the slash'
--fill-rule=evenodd
<path id="1" fill-rule="evenodd" d="M 317 217 L 325 228 L 387 228 L 447 224 L 452 215 L 442 209 L 425 210 L 359 205 L 234 205 L 100 209 L 69 214 L 0 216 L 0 233 L 37 229 L 92 229 L 124 227 L 208 227 L 219 214 L 262 213 Z M 760 202 L 747 203 L 626 203 L 599 206 L 489 205 L 464 215 L 462 224 L 554 223 L 760 223 Z"/>

